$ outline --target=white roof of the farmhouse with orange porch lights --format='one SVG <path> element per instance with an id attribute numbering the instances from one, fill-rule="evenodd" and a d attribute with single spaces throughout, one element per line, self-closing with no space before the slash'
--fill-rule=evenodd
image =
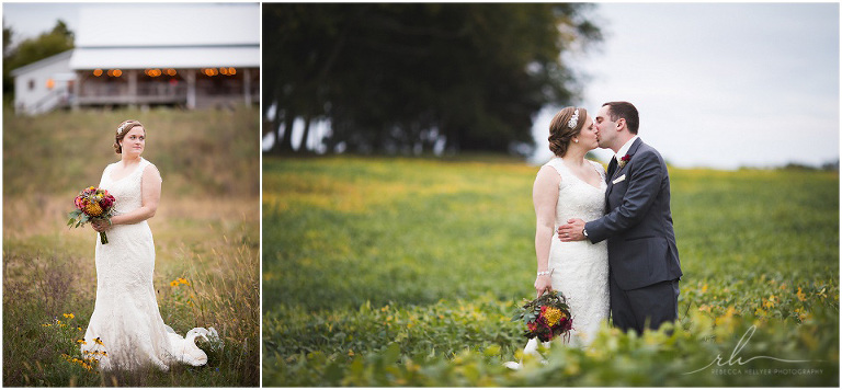
<path id="1" fill-rule="evenodd" d="M 259 67 L 254 3 L 107 5 L 79 13 L 72 69 Z"/>

